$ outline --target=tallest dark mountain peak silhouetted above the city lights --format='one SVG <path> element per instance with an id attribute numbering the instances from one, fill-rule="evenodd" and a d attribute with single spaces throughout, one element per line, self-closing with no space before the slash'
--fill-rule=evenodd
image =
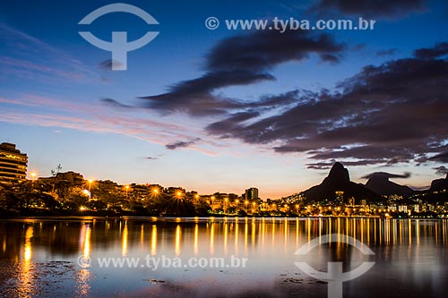
<path id="1" fill-rule="evenodd" d="M 363 184 L 351 182 L 349 170 L 339 162 L 332 166 L 330 173 L 321 184 L 306 190 L 302 195 L 306 198 L 306 202 L 332 201 L 336 200 L 336 192 L 343 192 L 343 200 L 346 203 L 349 198 L 355 198 L 356 204 L 359 204 L 360 200 L 367 200 L 367 202 L 383 200 L 380 195 L 369 190 Z"/>

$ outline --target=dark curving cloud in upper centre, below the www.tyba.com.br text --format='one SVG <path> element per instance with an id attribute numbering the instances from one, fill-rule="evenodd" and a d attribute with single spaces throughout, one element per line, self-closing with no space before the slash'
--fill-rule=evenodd
<path id="1" fill-rule="evenodd" d="M 181 81 L 167 93 L 143 97 L 145 106 L 161 113 L 184 112 L 189 115 L 220 115 L 228 111 L 265 105 L 223 98 L 216 91 L 260 81 L 273 81 L 271 69 L 282 63 L 302 61 L 318 55 L 324 62 L 337 63 L 344 46 L 330 36 L 312 35 L 305 30 L 284 33 L 272 30 L 251 32 L 225 38 L 206 56 L 204 74 Z"/>

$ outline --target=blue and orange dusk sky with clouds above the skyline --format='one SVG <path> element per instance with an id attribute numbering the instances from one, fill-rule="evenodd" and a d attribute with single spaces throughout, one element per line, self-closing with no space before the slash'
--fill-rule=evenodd
<path id="1" fill-rule="evenodd" d="M 321 183 L 335 161 L 427 187 L 447 173 L 448 3 L 429 0 L 0 4 L 0 141 L 29 172 L 263 199 Z M 205 21 L 215 17 L 220 27 Z M 226 20 L 374 20 L 373 30 L 228 30 Z M 159 35 L 111 69 L 110 41 Z"/>

